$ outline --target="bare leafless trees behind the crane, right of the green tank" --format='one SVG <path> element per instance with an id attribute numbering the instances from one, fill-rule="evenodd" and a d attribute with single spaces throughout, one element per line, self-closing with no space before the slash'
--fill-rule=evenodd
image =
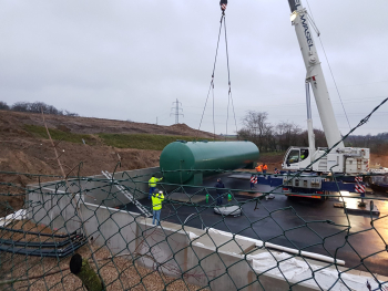
<path id="1" fill-rule="evenodd" d="M 307 131 L 290 122 L 270 124 L 268 113 L 248 111 L 242 119 L 243 128 L 237 132 L 238 139 L 251 141 L 262 153 L 285 152 L 290 146 L 308 146 Z M 327 147 L 324 131 L 314 129 L 316 147 Z M 349 136 L 345 146 L 368 147 L 371 153 L 388 154 L 388 133 Z"/>

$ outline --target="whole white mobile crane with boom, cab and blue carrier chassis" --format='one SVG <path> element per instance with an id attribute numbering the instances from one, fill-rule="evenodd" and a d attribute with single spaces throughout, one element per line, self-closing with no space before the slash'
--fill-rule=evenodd
<path id="1" fill-rule="evenodd" d="M 323 198 L 327 191 L 340 190 L 365 194 L 365 185 L 358 175 L 368 172 L 369 148 L 345 147 L 341 135 L 334 115 L 330 96 L 320 66 L 320 61 L 309 28 L 310 18 L 307 10 L 303 8 L 300 0 L 288 0 L 290 8 L 290 21 L 299 42 L 300 52 L 306 66 L 306 105 L 307 105 L 307 132 L 308 147 L 292 146 L 285 154 L 282 164 L 280 176 L 258 177 L 258 184 L 270 186 L 283 185 L 283 193 L 287 196 L 304 196 Z M 312 21 L 313 23 L 313 21 Z M 328 148 L 331 150 L 325 156 L 328 148 L 315 148 L 315 136 L 313 132 L 312 106 L 309 89 L 313 89 L 318 107 L 319 117 L 324 127 Z M 317 160 L 313 165 L 313 162 Z M 298 178 L 289 179 L 288 174 L 293 170 L 303 170 Z M 321 174 L 343 174 L 348 181 L 334 183 Z M 343 178 L 345 179 L 345 178 Z M 317 195 L 315 195 L 317 194 Z"/>

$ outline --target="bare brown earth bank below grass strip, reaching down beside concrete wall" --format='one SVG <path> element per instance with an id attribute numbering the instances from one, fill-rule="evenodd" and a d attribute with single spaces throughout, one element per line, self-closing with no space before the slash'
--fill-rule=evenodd
<path id="1" fill-rule="evenodd" d="M 69 176 L 100 175 L 101 170 L 130 170 L 159 166 L 159 150 L 89 146 L 61 142 L 58 146 L 60 160 Z M 62 176 L 54 150 L 48 139 L 14 138 L 0 143 L 0 214 L 13 212 L 23 206 L 24 187 L 28 184 L 58 180 Z M 12 174 L 19 173 L 19 174 Z M 38 177 L 28 174 L 53 175 Z M 13 186 L 8 186 L 11 184 Z"/>

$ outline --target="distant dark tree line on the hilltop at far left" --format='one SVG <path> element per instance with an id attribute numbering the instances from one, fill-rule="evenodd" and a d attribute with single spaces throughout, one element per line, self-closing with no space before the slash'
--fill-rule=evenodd
<path id="1" fill-rule="evenodd" d="M 65 116 L 79 116 L 76 113 L 69 112 L 67 110 L 57 110 L 54 106 L 45 104 L 43 102 L 17 102 L 13 105 L 8 105 L 6 102 L 0 101 L 1 111 L 17 111 L 17 112 L 31 112 L 41 113 L 43 110 L 44 114 L 53 115 L 65 115 Z"/>

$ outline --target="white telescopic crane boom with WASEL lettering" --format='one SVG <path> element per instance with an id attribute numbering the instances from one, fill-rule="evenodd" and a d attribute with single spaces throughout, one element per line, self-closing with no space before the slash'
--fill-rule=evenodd
<path id="1" fill-rule="evenodd" d="M 288 3 L 293 13 L 292 22 L 295 27 L 295 32 L 306 66 L 306 82 L 309 82 L 312 85 L 327 145 L 333 147 L 341 139 L 341 135 L 334 115 L 330 96 L 327 91 L 317 50 L 314 44 L 313 33 L 308 25 L 308 14 L 306 9 L 303 8 L 300 0 L 288 0 Z M 336 148 L 338 147 L 344 147 L 344 143 L 340 142 Z"/>

